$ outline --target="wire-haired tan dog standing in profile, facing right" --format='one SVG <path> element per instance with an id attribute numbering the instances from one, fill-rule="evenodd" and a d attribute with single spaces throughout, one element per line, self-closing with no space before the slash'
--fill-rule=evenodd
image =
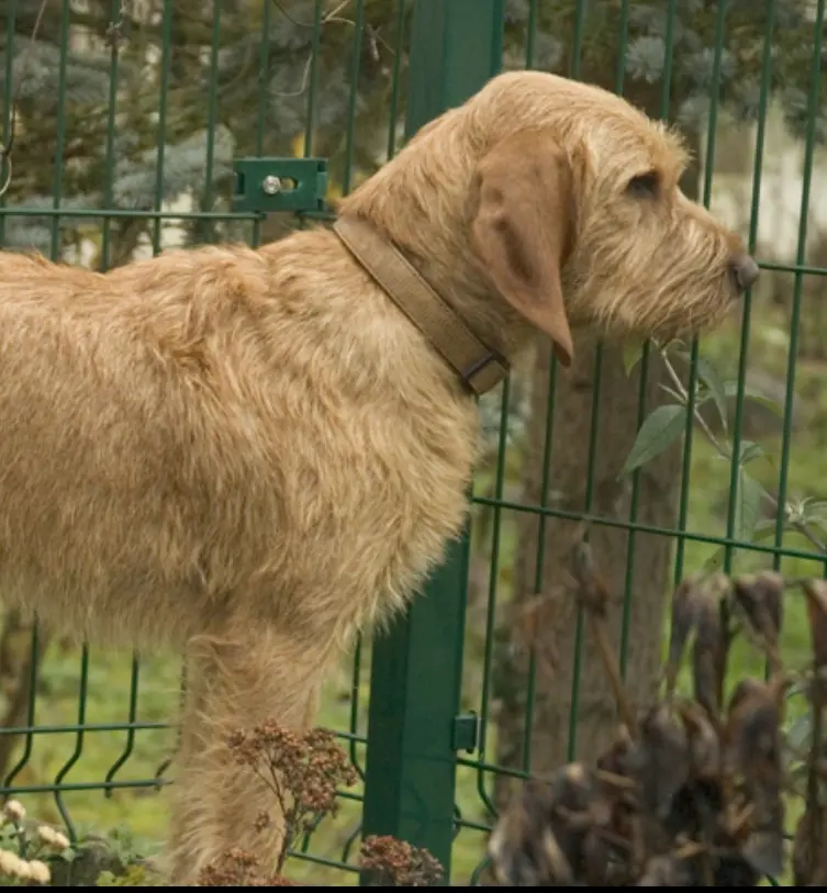
<path id="1" fill-rule="evenodd" d="M 539 330 L 677 335 L 757 276 L 623 100 L 507 74 L 342 203 L 511 359 Z M 390 249 L 389 249 L 390 250 Z M 302 727 L 356 629 L 402 611 L 466 515 L 478 415 L 333 232 L 108 275 L 0 256 L 0 592 L 104 643 L 187 645 L 171 879 L 270 805 L 225 737 Z"/>

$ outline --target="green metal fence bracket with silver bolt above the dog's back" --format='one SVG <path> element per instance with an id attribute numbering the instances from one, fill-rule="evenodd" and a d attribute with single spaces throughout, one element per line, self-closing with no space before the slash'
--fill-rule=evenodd
<path id="1" fill-rule="evenodd" d="M 234 211 L 325 210 L 326 158 L 238 158 L 233 171 Z"/>

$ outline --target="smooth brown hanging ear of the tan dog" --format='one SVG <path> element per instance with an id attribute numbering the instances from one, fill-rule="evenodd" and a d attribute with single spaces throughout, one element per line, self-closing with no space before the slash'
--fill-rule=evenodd
<path id="1" fill-rule="evenodd" d="M 572 172 L 545 131 L 495 145 L 476 171 L 471 247 L 496 290 L 551 337 L 563 366 L 574 354 L 560 267 L 573 230 Z"/>

